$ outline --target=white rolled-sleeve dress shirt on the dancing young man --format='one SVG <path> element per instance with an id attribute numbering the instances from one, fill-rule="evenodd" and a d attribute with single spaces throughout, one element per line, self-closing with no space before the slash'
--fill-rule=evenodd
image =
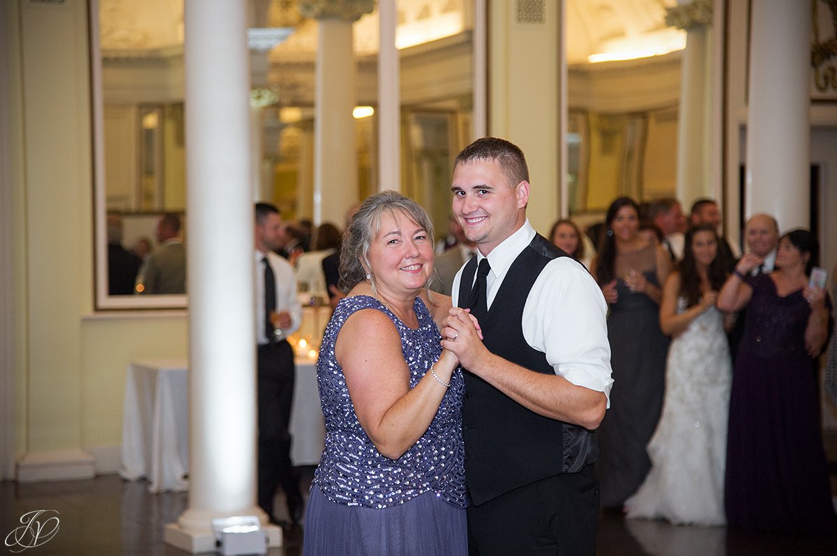
<path id="1" fill-rule="evenodd" d="M 529 220 L 488 254 L 491 267 L 486 277 L 491 303 L 506 278 L 511 263 L 535 237 Z M 484 257 L 477 253 L 477 263 Z M 465 268 L 463 266 L 463 268 Z M 453 303 L 457 304 L 462 268 L 453 284 Z M 511 278 L 514 279 L 514 278 Z M 526 297 L 523 308 L 523 337 L 532 349 L 546 354 L 556 375 L 573 385 L 604 392 L 610 406 L 610 343 L 607 325 L 608 304 L 590 273 L 569 257 L 552 259 L 543 268 Z"/>

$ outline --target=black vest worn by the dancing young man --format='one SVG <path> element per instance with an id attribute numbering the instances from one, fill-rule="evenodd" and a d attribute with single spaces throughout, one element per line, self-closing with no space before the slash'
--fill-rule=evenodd
<path id="1" fill-rule="evenodd" d="M 536 234 L 511 263 L 488 314 L 480 319 L 483 342 L 491 353 L 547 375 L 555 370 L 545 354 L 526 344 L 522 317 L 532 285 L 547 263 L 558 257 L 567 253 Z M 476 258 L 472 258 L 462 271 L 460 306 L 468 298 L 475 271 Z M 476 506 L 531 482 L 581 471 L 598 457 L 593 432 L 540 416 L 470 372 L 465 373 L 462 436 L 465 478 Z"/>

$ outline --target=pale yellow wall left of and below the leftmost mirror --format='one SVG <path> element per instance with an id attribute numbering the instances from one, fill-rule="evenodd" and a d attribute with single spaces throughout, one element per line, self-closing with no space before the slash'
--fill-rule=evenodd
<path id="1" fill-rule="evenodd" d="M 13 456 L 109 454 L 116 471 L 131 360 L 186 357 L 183 314 L 92 316 L 93 213 L 85 0 L 3 3 L 12 164 Z M 19 30 L 19 35 L 17 34 Z M 20 71 L 20 68 L 25 71 Z M 8 241 L 8 240 L 7 240 Z"/>

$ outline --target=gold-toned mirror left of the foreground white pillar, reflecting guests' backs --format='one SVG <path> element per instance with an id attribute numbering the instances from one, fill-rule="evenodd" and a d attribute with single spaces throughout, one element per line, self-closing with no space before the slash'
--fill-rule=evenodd
<path id="1" fill-rule="evenodd" d="M 185 262 L 171 247 L 182 250 L 182 235 L 159 226 L 186 207 L 182 17 L 182 1 L 90 1 L 96 235 L 107 237 L 96 242 L 97 309 L 186 306 Z M 172 265 L 179 278 L 161 282 Z"/>

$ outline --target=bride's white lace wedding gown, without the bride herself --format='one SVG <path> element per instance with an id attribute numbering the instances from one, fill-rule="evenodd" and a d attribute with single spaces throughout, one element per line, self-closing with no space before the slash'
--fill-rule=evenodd
<path id="1" fill-rule="evenodd" d="M 678 300 L 678 313 L 686 300 Z M 651 471 L 625 502 L 629 518 L 723 525 L 732 363 L 721 313 L 706 309 L 671 341 Z"/>

